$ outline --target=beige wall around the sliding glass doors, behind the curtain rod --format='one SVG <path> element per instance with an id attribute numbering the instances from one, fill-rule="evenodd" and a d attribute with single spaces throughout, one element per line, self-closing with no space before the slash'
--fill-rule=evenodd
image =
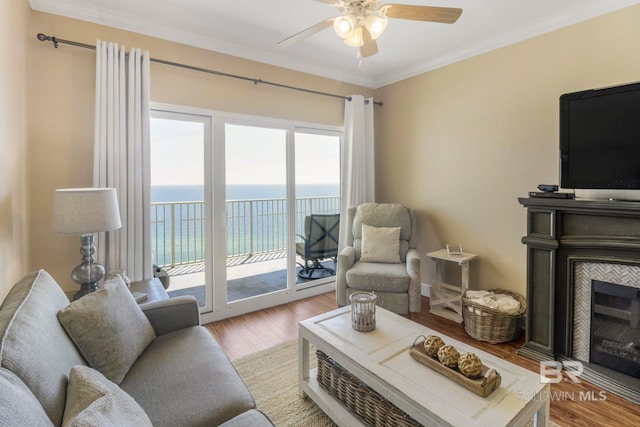
<path id="1" fill-rule="evenodd" d="M 50 231 L 51 205 L 56 188 L 92 185 L 95 53 L 62 44 L 54 49 L 50 43 L 36 40 L 35 35 L 39 32 L 91 45 L 97 39 L 115 41 L 127 47 L 149 49 L 153 58 L 319 91 L 373 95 L 370 89 L 88 22 L 32 12 L 29 34 L 33 170 L 31 265 L 48 270 L 68 290 L 76 287 L 68 277 L 80 262 L 80 240 Z M 339 126 L 344 112 L 344 101 L 340 99 L 256 86 L 251 82 L 154 63 L 151 65 L 151 100 Z"/>

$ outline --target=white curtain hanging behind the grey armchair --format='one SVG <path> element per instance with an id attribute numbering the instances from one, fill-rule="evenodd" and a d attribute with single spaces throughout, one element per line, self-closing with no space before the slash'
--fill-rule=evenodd
<path id="1" fill-rule="evenodd" d="M 375 201 L 373 99 L 352 95 L 345 101 L 339 249 L 347 241 L 347 209 Z"/>

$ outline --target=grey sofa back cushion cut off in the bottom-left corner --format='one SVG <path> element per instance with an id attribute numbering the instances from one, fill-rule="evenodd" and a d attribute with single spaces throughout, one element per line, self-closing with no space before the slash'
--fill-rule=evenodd
<path id="1" fill-rule="evenodd" d="M 4 368 L 0 368 L 0 408 L 0 426 L 53 427 L 31 390 Z"/>

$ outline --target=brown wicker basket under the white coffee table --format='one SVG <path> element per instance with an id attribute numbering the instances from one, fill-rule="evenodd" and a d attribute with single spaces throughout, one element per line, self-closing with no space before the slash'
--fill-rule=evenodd
<path id="1" fill-rule="evenodd" d="M 420 424 L 349 371 L 317 350 L 318 383 L 362 421 L 376 427 L 419 427 Z"/>

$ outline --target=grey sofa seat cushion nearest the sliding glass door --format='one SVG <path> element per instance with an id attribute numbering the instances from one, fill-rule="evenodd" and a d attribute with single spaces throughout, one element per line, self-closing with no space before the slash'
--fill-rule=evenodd
<path id="1" fill-rule="evenodd" d="M 203 326 L 159 335 L 120 386 L 156 427 L 220 425 L 255 408 L 244 382 Z"/>

